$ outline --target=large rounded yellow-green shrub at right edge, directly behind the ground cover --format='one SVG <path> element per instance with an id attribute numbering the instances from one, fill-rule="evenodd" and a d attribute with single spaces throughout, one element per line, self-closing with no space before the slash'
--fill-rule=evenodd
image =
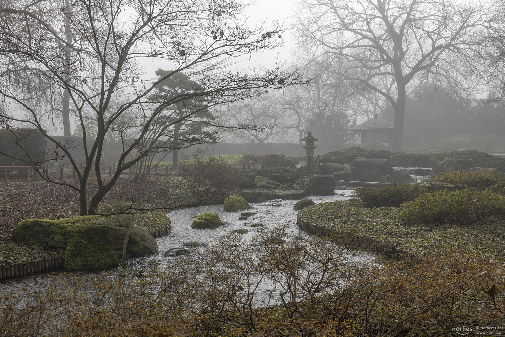
<path id="1" fill-rule="evenodd" d="M 416 223 L 469 225 L 483 218 L 504 218 L 505 201 L 489 190 L 444 189 L 403 204 L 398 217 Z"/>

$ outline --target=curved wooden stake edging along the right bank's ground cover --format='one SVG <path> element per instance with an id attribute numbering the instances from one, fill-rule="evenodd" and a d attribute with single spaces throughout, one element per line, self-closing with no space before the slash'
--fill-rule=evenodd
<path id="1" fill-rule="evenodd" d="M 299 214 L 296 215 L 296 223 L 298 227 L 300 227 L 302 230 L 307 231 L 310 234 L 316 234 L 316 235 L 331 235 L 334 234 L 333 231 L 334 229 L 331 229 L 329 227 L 323 227 L 323 226 L 318 226 L 314 224 L 310 224 L 306 222 L 305 220 L 302 220 Z M 335 231 L 336 234 L 336 231 Z M 349 233 L 349 244 L 357 244 L 358 246 L 361 247 L 366 247 L 370 248 L 374 253 L 387 253 L 388 255 L 392 256 L 398 256 L 399 254 L 405 254 L 405 252 L 400 249 L 395 247 L 394 245 L 389 245 L 389 244 L 383 244 L 371 237 L 366 237 L 363 235 L 359 234 L 354 234 L 354 233 Z"/>

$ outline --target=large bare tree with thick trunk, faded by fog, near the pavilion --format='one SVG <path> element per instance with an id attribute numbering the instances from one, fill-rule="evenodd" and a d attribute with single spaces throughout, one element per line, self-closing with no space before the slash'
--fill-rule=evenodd
<path id="1" fill-rule="evenodd" d="M 475 84 L 469 74 L 481 57 L 487 14 L 483 6 L 451 0 L 311 0 L 302 5 L 297 34 L 301 43 L 319 46 L 317 56 L 346 60 L 350 66 L 339 71 L 344 85 L 361 85 L 389 102 L 392 148 L 399 151 L 411 82 L 431 77 L 460 92 Z"/>

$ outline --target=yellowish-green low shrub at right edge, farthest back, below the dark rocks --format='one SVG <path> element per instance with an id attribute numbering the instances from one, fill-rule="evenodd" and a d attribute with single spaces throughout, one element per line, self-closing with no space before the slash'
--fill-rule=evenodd
<path id="1" fill-rule="evenodd" d="M 505 175 L 496 171 L 452 171 L 435 174 L 429 179 L 430 182 L 441 181 L 462 187 L 473 187 L 477 190 L 489 188 L 498 194 L 505 193 Z"/>

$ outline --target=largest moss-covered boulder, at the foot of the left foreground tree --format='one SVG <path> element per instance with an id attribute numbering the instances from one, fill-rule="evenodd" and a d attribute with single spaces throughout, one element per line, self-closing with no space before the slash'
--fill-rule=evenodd
<path id="1" fill-rule="evenodd" d="M 64 249 L 66 270 L 115 268 L 125 256 L 133 225 L 130 215 L 28 219 L 12 231 L 14 242 Z"/>

